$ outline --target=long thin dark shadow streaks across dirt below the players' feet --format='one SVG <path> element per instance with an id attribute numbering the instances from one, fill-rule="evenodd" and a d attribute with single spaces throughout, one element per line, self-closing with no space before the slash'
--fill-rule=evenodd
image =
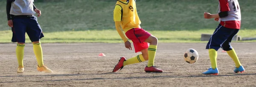
<path id="1" fill-rule="evenodd" d="M 173 72 L 168 72 L 173 73 Z M 10 74 L 10 73 L 1 73 L 2 74 Z M 11 73 L 14 74 L 14 73 Z M 30 76 L 86 76 L 86 75 L 116 75 L 116 74 L 143 74 L 143 73 L 99 73 L 99 74 L 57 74 L 57 75 L 8 75 L 8 76 L 0 76 L 0 77 L 30 77 Z M 145 73 L 145 74 L 156 74 L 156 73 Z M 157 74 L 161 75 L 161 73 Z M 149 78 L 189 78 L 189 77 L 221 77 L 221 76 L 238 76 L 238 75 L 256 75 L 256 73 L 226 73 L 226 75 L 189 75 L 189 76 L 179 76 L 179 75 L 163 75 L 163 76 L 141 76 L 141 77 L 120 77 L 120 78 L 81 78 L 81 79 L 61 79 L 61 80 L 39 80 L 32 82 L 42 82 L 42 81 L 83 81 L 83 80 L 107 80 L 107 79 L 149 79 Z M 5 81 L 0 83 L 16 83 L 23 81 Z"/>

